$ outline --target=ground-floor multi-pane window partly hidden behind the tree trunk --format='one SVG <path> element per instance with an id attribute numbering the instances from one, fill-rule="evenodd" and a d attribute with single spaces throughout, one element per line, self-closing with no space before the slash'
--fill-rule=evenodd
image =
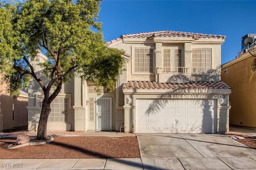
<path id="1" fill-rule="evenodd" d="M 39 102 L 40 112 L 42 110 L 42 99 Z M 50 104 L 51 113 L 48 122 L 68 122 L 68 98 L 55 98 Z"/>

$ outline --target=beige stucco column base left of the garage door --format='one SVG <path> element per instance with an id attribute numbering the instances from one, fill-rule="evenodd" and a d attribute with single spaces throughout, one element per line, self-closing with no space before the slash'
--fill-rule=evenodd
<path id="1" fill-rule="evenodd" d="M 135 107 L 124 106 L 124 132 L 135 132 Z"/>

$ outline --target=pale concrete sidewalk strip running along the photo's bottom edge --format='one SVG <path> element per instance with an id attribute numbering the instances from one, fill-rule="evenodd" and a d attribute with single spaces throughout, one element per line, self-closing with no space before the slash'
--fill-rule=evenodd
<path id="1" fill-rule="evenodd" d="M 217 158 L 2 159 L 12 170 L 255 170 L 256 155 Z"/>

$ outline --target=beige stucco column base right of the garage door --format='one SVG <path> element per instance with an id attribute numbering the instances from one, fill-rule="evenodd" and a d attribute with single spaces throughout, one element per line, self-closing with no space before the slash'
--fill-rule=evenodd
<path id="1" fill-rule="evenodd" d="M 229 109 L 230 106 L 218 107 L 217 133 L 226 133 L 229 131 Z"/>

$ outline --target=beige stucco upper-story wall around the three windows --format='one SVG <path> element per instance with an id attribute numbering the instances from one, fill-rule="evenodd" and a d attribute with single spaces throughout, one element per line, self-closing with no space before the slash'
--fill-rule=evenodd
<path id="1" fill-rule="evenodd" d="M 171 38 L 169 38 L 171 39 Z M 188 38 L 178 38 L 177 40 L 165 39 L 160 42 L 158 39 L 148 40 L 146 38 L 128 38 L 119 42 L 110 44 L 112 48 L 123 49 L 125 53 L 131 55 L 127 63 L 128 81 L 157 81 L 165 82 L 188 82 L 188 81 L 220 81 L 220 60 L 221 44 L 224 40 L 205 38 L 202 40 L 192 40 Z M 154 49 L 154 72 L 153 73 L 134 73 L 133 58 L 134 48 L 153 48 Z M 192 49 L 211 49 L 212 52 L 212 73 L 191 73 L 192 69 Z M 163 49 L 182 49 L 182 58 L 187 68 L 187 73 L 162 73 L 162 50 Z"/>

